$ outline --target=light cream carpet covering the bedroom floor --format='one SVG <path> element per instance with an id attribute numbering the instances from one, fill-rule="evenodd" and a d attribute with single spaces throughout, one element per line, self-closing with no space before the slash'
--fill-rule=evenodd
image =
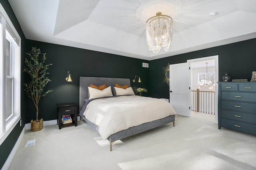
<path id="1" fill-rule="evenodd" d="M 26 142 L 36 139 L 34 146 Z M 26 131 L 10 170 L 252 170 L 256 136 L 222 128 L 214 115 L 192 112 L 156 129 L 116 141 L 110 152 L 88 123 Z"/>

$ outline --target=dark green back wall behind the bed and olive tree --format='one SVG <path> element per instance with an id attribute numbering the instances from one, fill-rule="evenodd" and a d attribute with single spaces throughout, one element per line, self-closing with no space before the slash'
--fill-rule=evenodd
<path id="1" fill-rule="evenodd" d="M 53 92 L 42 97 L 39 104 L 38 118 L 43 118 L 45 121 L 57 118 L 57 103 L 79 103 L 80 76 L 129 78 L 134 90 L 138 87 L 149 88 L 149 70 L 142 67 L 142 62 L 148 63 L 148 61 L 27 40 L 26 52 L 31 51 L 32 47 L 40 48 L 42 53 L 46 53 L 46 63 L 53 64 L 48 70 L 50 73 L 48 77 L 52 81 L 45 88 L 45 91 L 51 89 Z M 65 80 L 68 71 L 70 71 L 73 82 Z M 22 74 L 28 80 L 28 74 L 26 72 Z M 142 83 L 132 82 L 135 75 L 141 77 Z M 26 97 L 26 123 L 30 123 L 30 120 L 35 118 L 36 109 L 32 100 Z"/>

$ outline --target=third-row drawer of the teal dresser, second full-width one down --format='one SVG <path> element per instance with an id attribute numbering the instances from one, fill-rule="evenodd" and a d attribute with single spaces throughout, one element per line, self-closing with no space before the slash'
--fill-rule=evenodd
<path id="1" fill-rule="evenodd" d="M 233 101 L 221 101 L 221 109 L 245 111 L 256 114 L 255 103 L 233 102 Z"/>

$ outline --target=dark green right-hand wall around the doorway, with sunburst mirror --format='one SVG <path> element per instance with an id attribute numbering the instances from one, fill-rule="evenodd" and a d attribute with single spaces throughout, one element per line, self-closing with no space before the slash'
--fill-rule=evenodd
<path id="1" fill-rule="evenodd" d="M 156 98 L 169 98 L 169 86 L 162 83 L 162 67 L 170 64 L 186 63 L 189 59 L 208 56 L 219 56 L 219 81 L 225 72 L 231 79 L 247 78 L 251 80 L 252 71 L 256 70 L 256 39 L 241 41 L 228 45 L 222 45 L 200 51 L 184 53 L 163 59 L 150 61 L 150 96 Z"/>

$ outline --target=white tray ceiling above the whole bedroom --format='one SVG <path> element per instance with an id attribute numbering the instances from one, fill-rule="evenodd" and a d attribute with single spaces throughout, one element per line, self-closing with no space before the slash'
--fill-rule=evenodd
<path id="1" fill-rule="evenodd" d="M 8 0 L 26 39 L 153 60 L 256 38 L 256 0 Z M 217 15 L 210 17 L 210 12 Z M 168 51 L 149 51 L 146 21 L 173 19 Z M 86 56 L 85 56 L 86 57 Z"/>

